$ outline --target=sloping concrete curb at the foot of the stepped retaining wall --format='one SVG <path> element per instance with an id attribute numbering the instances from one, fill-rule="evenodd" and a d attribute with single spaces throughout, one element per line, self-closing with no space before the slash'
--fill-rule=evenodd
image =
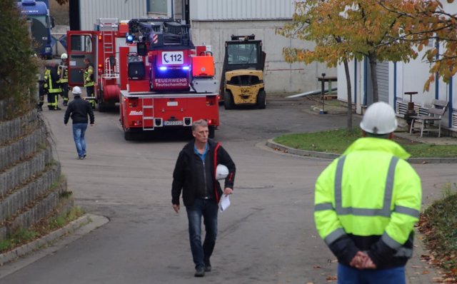
<path id="1" fill-rule="evenodd" d="M 99 228 L 101 225 L 108 223 L 108 218 L 99 215 L 92 215 L 86 214 L 81 216 L 80 218 L 71 221 L 67 225 L 53 232 L 49 233 L 48 235 L 44 235 L 43 237 L 32 241 L 31 243 L 26 243 L 25 245 L 21 245 L 19 248 L 15 248 L 6 253 L 0 254 L 0 266 L 5 265 L 13 260 L 17 260 L 24 255 L 28 255 L 29 253 L 38 250 L 39 248 L 46 247 L 48 245 L 53 244 L 56 240 L 61 238 L 64 235 L 78 233 L 79 230 L 84 230 L 84 233 L 89 233 L 91 230 Z M 83 228 L 87 227 L 87 228 Z M 90 227 L 90 228 L 89 228 Z M 55 250 L 54 250 L 55 251 Z M 44 256 L 44 255 L 43 255 Z M 19 268 L 18 268 L 19 269 Z M 1 273 L 0 278 L 4 277 L 3 273 Z"/>

